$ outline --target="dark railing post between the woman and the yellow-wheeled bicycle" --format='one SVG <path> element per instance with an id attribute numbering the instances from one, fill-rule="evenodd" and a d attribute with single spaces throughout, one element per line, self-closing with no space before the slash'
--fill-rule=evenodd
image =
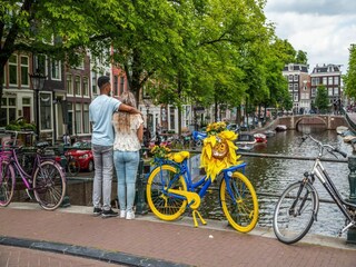
<path id="1" fill-rule="evenodd" d="M 144 174 L 144 158 L 142 158 L 142 151 L 140 150 L 140 162 L 138 165 L 138 171 L 137 171 L 137 202 L 136 202 L 136 214 L 139 215 L 146 215 L 148 212 L 147 204 L 145 201 L 145 195 L 146 195 L 146 181 L 145 181 L 145 174 Z"/>

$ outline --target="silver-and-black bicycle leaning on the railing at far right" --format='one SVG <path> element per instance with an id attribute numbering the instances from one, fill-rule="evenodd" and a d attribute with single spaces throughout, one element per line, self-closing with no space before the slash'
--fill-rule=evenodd
<path id="1" fill-rule="evenodd" d="M 299 241 L 309 231 L 314 220 L 317 219 L 319 196 L 313 186 L 315 178 L 323 184 L 346 218 L 345 226 L 340 229 L 339 235 L 356 224 L 356 205 L 343 199 L 320 161 L 325 151 L 335 157 L 337 157 L 336 154 L 344 158 L 347 155 L 330 145 L 322 144 L 310 135 L 303 137 L 303 141 L 307 138 L 317 144 L 318 157 L 315 159 L 312 171 L 306 171 L 301 180 L 289 185 L 281 194 L 274 212 L 274 231 L 278 240 L 284 244 Z"/>

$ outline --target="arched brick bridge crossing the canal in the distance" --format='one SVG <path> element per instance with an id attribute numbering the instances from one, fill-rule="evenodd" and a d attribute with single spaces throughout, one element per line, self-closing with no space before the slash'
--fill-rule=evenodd
<path id="1" fill-rule="evenodd" d="M 323 125 L 327 130 L 335 130 L 338 126 L 346 126 L 348 123 L 342 115 L 295 115 L 278 117 L 274 126 L 285 125 L 287 129 L 297 129 L 298 125 Z"/>

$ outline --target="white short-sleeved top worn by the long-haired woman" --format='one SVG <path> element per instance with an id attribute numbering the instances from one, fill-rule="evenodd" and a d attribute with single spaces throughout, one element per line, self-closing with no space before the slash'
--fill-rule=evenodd
<path id="1" fill-rule="evenodd" d="M 141 115 L 130 115 L 130 132 L 121 132 L 118 130 L 118 113 L 112 116 L 112 125 L 115 129 L 113 150 L 120 151 L 138 151 L 141 144 L 137 137 L 137 130 L 144 123 Z"/>

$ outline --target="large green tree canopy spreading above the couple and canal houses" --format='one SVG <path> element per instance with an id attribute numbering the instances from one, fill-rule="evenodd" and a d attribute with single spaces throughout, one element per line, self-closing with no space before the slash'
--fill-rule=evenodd
<path id="1" fill-rule="evenodd" d="M 283 67 L 306 58 L 275 37 L 265 0 L 1 2 L 0 97 L 14 51 L 72 63 L 90 49 L 125 71 L 137 100 L 145 87 L 155 103 L 178 108 L 288 102 Z"/>

